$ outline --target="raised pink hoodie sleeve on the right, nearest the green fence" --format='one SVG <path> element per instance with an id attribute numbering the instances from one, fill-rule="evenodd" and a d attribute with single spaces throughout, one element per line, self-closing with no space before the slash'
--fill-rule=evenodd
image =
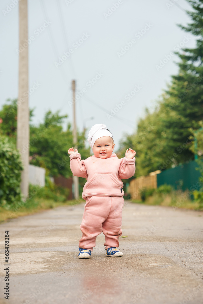
<path id="1" fill-rule="evenodd" d="M 128 179 L 135 174 L 135 157 L 121 158 L 121 164 L 118 171 L 118 176 L 121 179 Z"/>

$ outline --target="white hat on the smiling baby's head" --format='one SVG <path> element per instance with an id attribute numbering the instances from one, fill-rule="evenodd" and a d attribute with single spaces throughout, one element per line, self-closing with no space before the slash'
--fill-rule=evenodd
<path id="1" fill-rule="evenodd" d="M 110 131 L 107 129 L 107 127 L 103 124 L 96 124 L 92 126 L 88 133 L 88 142 L 90 144 L 90 147 L 93 149 L 95 141 L 103 136 L 110 136 L 113 139 L 113 135 L 110 133 Z"/>

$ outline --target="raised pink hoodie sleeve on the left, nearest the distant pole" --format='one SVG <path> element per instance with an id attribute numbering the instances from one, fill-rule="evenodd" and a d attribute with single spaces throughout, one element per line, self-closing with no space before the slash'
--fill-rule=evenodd
<path id="1" fill-rule="evenodd" d="M 85 168 L 84 160 L 80 160 L 80 153 L 70 155 L 70 168 L 73 176 L 87 177 L 87 171 Z"/>

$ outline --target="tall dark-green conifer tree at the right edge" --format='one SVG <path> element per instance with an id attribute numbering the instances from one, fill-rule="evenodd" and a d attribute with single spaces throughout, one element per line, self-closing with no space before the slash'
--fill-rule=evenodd
<path id="1" fill-rule="evenodd" d="M 189 150 L 191 143 L 188 138 L 192 135 L 189 128 L 199 129 L 199 122 L 203 119 L 203 0 L 187 2 L 194 9 L 193 12 L 187 11 L 192 22 L 187 26 L 178 26 L 198 36 L 196 47 L 183 48 L 183 53 L 174 52 L 181 59 L 177 63 L 179 73 L 172 75 L 172 84 L 165 91 L 166 96 L 161 105 L 165 112 L 170 113 L 163 124 L 168 128 L 168 135 L 174 144 L 188 143 L 182 153 L 182 162 L 194 159 L 194 154 Z"/>

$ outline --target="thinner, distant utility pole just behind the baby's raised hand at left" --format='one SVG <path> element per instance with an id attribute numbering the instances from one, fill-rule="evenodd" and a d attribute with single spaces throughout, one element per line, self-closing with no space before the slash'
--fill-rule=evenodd
<path id="1" fill-rule="evenodd" d="M 76 115 L 75 115 L 75 80 L 72 81 L 73 90 L 73 147 L 77 149 L 77 127 L 76 127 Z M 78 176 L 73 176 L 74 183 L 74 198 L 79 199 L 79 178 Z"/>

